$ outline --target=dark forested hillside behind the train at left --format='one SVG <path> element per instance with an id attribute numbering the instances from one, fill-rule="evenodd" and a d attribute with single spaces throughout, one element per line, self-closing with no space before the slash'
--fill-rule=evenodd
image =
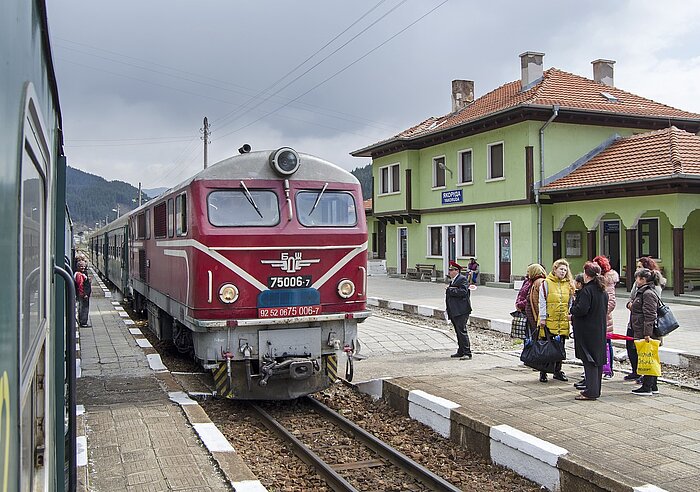
<path id="1" fill-rule="evenodd" d="M 138 205 L 139 190 L 123 181 L 107 181 L 100 176 L 86 173 L 68 166 L 66 175 L 66 200 L 70 210 L 75 232 L 97 222 L 104 225 L 105 219 L 114 220 L 117 216 L 113 209 L 119 207 L 123 215 Z M 143 200 L 148 197 L 143 196 Z"/>

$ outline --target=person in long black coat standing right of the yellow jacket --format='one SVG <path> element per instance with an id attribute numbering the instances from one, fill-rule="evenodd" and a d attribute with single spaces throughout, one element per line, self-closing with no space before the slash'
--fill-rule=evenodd
<path id="1" fill-rule="evenodd" d="M 606 327 L 608 294 L 600 266 L 592 261 L 583 265 L 583 288 L 576 293 L 571 305 L 574 325 L 576 357 L 583 362 L 586 388 L 577 400 L 595 400 L 600 397 L 600 383 L 606 362 Z"/>

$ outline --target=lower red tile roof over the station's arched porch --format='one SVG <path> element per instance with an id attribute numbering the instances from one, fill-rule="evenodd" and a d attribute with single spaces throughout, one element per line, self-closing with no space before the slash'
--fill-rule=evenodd
<path id="1" fill-rule="evenodd" d="M 688 176 L 700 178 L 700 137 L 672 126 L 621 138 L 541 191 Z"/>

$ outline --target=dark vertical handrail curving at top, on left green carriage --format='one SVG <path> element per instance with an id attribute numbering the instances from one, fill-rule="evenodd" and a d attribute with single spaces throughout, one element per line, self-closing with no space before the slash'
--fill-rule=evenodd
<path id="1" fill-rule="evenodd" d="M 66 379 L 68 379 L 68 490 L 77 490 L 77 404 L 76 374 L 75 374 L 75 284 L 73 277 L 63 268 L 54 265 L 55 275 L 63 277 L 66 294 Z"/>

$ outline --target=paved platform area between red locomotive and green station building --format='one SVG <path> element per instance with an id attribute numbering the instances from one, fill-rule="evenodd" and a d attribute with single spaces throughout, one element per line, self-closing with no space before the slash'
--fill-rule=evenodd
<path id="1" fill-rule="evenodd" d="M 434 310 L 438 317 L 444 289 L 439 283 L 370 277 L 368 293 L 382 307 L 426 316 Z M 479 287 L 472 291 L 473 314 L 496 323 L 509 318 L 515 296 L 515 291 Z M 624 309 L 624 302 L 619 304 Z M 667 349 L 700 354 L 700 307 L 673 304 L 672 309 L 681 328 L 667 337 Z M 625 313 L 618 310 L 616 323 L 626 326 Z M 435 329 L 370 320 L 360 327 L 368 349 L 355 363 L 355 384 L 444 437 L 549 490 L 700 490 L 700 392 L 660 384 L 659 394 L 637 396 L 631 393 L 637 385 L 618 373 L 603 383 L 600 399 L 576 401 L 572 384 L 581 366 L 564 365 L 569 382 L 550 378 L 543 384 L 520 362 L 519 350 L 482 351 L 472 338 L 474 358 L 451 359 L 456 343 L 447 322 Z M 387 331 L 392 333 L 388 342 Z M 415 348 L 412 341 L 426 337 L 437 350 Z M 409 348 L 396 349 L 397 339 Z"/>

